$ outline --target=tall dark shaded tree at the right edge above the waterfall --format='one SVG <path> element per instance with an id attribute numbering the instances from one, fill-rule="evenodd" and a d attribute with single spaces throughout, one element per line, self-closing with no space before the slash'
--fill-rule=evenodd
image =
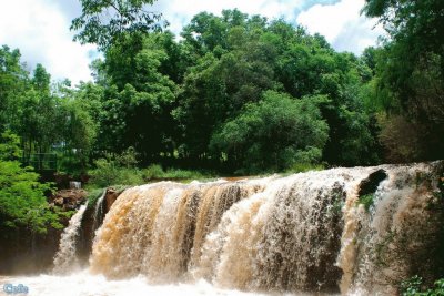
<path id="1" fill-rule="evenodd" d="M 383 131 L 389 154 L 405 155 L 393 161 L 442 159 L 444 141 L 436 135 L 444 133 L 444 2 L 366 0 L 364 12 L 379 17 L 390 37 L 375 71 L 375 98 L 387 116 L 382 126 L 393 130 Z M 410 152 L 393 151 L 407 131 L 414 136 L 404 149 Z"/>

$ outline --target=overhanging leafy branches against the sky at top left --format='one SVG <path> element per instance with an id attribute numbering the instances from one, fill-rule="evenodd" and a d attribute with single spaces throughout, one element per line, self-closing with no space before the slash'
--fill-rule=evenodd
<path id="1" fill-rule="evenodd" d="M 82 14 L 72 20 L 71 30 L 79 31 L 74 41 L 95 43 L 105 50 L 125 33 L 158 30 L 161 13 L 149 12 L 155 0 L 81 0 Z"/>

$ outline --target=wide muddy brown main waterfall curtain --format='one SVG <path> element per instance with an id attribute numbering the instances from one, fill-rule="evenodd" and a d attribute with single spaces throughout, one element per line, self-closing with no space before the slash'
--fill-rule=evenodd
<path id="1" fill-rule="evenodd" d="M 244 292 L 395 294 L 433 264 L 443 171 L 434 162 L 135 186 L 98 229 L 90 271 Z"/>

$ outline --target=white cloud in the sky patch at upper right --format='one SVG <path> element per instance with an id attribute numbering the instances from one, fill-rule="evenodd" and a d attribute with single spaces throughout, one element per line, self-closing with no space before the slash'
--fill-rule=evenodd
<path id="1" fill-rule="evenodd" d="M 297 17 L 311 33 L 320 33 L 339 51 L 361 53 L 374 45 L 383 29 L 376 20 L 361 16 L 364 0 L 341 0 L 330 6 L 315 4 Z"/>

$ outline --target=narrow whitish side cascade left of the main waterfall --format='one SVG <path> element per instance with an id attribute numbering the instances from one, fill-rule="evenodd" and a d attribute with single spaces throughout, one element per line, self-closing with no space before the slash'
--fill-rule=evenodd
<path id="1" fill-rule="evenodd" d="M 82 222 L 88 202 L 80 206 L 79 211 L 69 221 L 68 227 L 64 228 L 59 244 L 59 251 L 54 256 L 53 272 L 57 274 L 65 274 L 79 266 L 77 257 L 77 238 L 79 237 L 79 228 Z"/>

